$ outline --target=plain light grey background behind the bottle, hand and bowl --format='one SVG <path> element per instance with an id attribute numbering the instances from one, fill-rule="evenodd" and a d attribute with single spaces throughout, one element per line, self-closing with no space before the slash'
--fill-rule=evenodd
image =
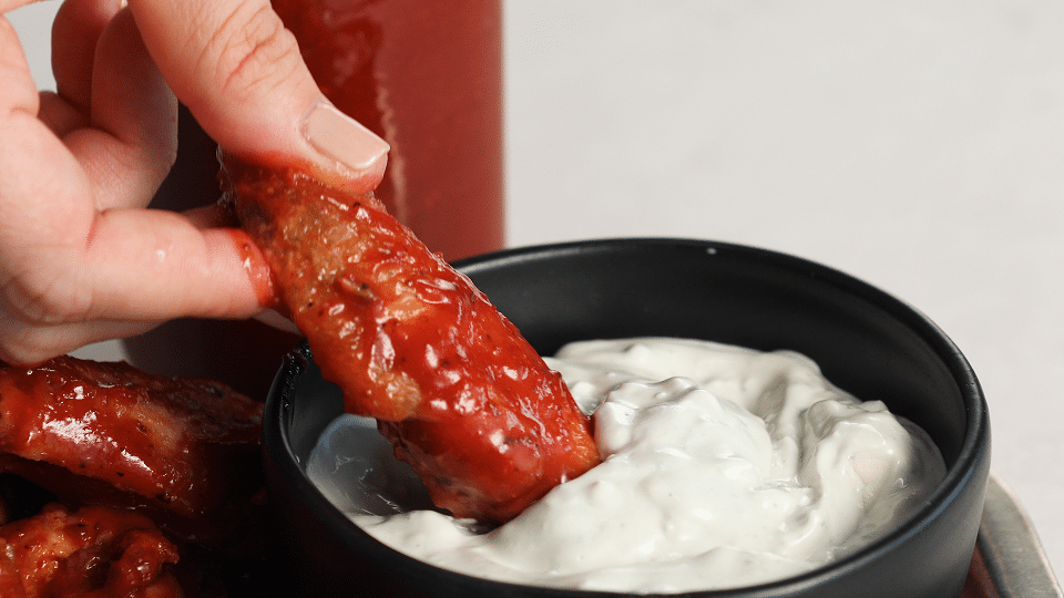
<path id="1" fill-rule="evenodd" d="M 11 14 L 41 86 L 57 7 Z M 913 303 L 1064 574 L 1064 3 L 511 0 L 507 38 L 511 245 L 759 245 Z"/>

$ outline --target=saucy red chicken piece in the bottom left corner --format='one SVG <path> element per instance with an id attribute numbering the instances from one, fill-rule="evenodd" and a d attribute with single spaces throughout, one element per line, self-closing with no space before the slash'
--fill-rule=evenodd
<path id="1" fill-rule="evenodd" d="M 177 547 L 123 509 L 52 504 L 0 527 L 0 596 L 177 598 Z"/>

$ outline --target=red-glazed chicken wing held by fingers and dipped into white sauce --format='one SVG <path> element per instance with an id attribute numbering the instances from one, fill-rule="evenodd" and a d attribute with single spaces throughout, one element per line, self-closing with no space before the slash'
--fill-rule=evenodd
<path id="1" fill-rule="evenodd" d="M 349 412 L 377 417 L 433 502 L 504 522 L 598 461 L 556 372 L 372 197 L 232 158 L 227 200 Z"/>

